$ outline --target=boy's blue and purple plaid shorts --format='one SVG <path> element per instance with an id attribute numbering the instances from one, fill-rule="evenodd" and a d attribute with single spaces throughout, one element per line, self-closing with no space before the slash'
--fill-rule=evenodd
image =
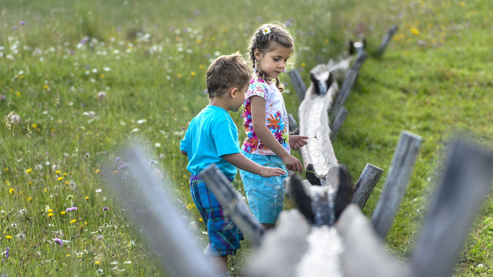
<path id="1" fill-rule="evenodd" d="M 231 217 L 225 214 L 223 206 L 199 175 L 190 176 L 190 192 L 200 216 L 207 224 L 211 256 L 236 255 L 236 249 L 240 248 L 240 241 L 244 239 L 243 234 Z"/>

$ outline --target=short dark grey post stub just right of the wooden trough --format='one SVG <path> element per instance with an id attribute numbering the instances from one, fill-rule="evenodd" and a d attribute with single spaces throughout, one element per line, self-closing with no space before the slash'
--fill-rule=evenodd
<path id="1" fill-rule="evenodd" d="M 352 194 L 351 202 L 358 205 L 359 209 L 363 210 L 366 201 L 368 201 L 373 188 L 377 185 L 383 172 L 383 169 L 378 168 L 373 164 L 366 164 L 356 185 L 354 185 L 354 193 Z"/>

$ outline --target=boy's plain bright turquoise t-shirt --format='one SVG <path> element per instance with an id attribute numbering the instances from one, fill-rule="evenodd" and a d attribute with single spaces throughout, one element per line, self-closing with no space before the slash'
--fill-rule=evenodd
<path id="1" fill-rule="evenodd" d="M 190 173 L 200 174 L 215 163 L 224 175 L 235 178 L 237 168 L 222 155 L 240 153 L 238 129 L 223 108 L 207 105 L 194 117 L 180 141 L 180 150 L 188 155 L 186 169 Z"/>

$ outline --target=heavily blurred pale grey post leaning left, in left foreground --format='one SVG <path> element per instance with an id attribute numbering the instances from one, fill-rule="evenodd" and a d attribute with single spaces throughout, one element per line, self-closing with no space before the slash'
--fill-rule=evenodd
<path id="1" fill-rule="evenodd" d="M 185 226 L 183 218 L 176 213 L 168 200 L 161 182 L 154 177 L 155 173 L 149 165 L 143 162 L 144 156 L 141 153 L 144 153 L 142 149 L 132 147 L 125 155 L 125 160 L 131 164 L 129 167 L 131 175 L 139 180 L 139 183 L 134 185 L 135 189 L 142 192 L 144 203 L 157 211 L 157 213 L 132 216 L 143 231 L 143 237 L 158 253 L 157 259 L 171 271 L 172 276 L 215 276 L 193 243 L 188 226 Z M 105 171 L 111 172 L 109 168 Z M 131 201 L 133 197 L 124 190 L 120 180 L 117 181 L 112 174 L 107 174 L 106 177 L 116 196 L 121 200 L 122 207 L 129 213 L 135 211 Z"/>

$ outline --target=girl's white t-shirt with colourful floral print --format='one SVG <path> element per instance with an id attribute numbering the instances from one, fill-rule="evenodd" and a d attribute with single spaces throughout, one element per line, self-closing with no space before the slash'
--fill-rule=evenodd
<path id="1" fill-rule="evenodd" d="M 252 95 L 258 95 L 265 99 L 265 125 L 287 153 L 291 153 L 288 141 L 289 124 L 282 94 L 275 83 L 258 78 L 255 73 L 252 74 L 252 80 L 248 91 L 246 91 L 246 100 L 243 104 L 243 129 L 246 133 L 246 139 L 243 142 L 242 149 L 251 154 L 275 155 L 259 140 L 253 131 L 250 102 L 250 96 Z"/>

